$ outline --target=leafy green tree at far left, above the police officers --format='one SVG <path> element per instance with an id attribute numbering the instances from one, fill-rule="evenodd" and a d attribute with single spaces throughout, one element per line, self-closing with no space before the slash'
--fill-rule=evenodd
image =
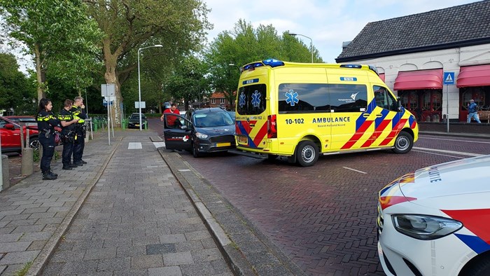
<path id="1" fill-rule="evenodd" d="M 38 99 L 45 97 L 46 74 L 73 88 L 90 85 L 101 33 L 82 0 L 0 0 L 0 7 L 6 31 L 34 56 Z"/>

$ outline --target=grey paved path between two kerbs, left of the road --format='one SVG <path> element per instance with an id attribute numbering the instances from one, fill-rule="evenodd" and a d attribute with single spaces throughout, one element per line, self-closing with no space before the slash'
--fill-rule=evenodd
<path id="1" fill-rule="evenodd" d="M 44 270 L 84 273 L 232 275 L 148 132 L 118 144 Z"/>

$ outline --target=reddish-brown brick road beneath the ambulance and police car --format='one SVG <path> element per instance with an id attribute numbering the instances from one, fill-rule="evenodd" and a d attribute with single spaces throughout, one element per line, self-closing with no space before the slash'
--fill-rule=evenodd
<path id="1" fill-rule="evenodd" d="M 162 133 L 160 121 L 150 128 Z M 490 154 L 488 139 L 421 135 L 405 155 L 323 156 L 313 167 L 220 153 L 181 156 L 309 275 L 384 275 L 377 192 L 420 167 Z"/>

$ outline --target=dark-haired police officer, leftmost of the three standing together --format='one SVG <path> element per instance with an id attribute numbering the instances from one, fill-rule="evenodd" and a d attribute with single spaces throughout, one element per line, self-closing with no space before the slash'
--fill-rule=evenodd
<path id="1" fill-rule="evenodd" d="M 38 114 L 36 117 L 39 130 L 39 142 L 43 145 L 43 156 L 41 157 L 41 172 L 43 180 L 57 179 L 58 175 L 51 171 L 51 159 L 55 154 L 55 126 L 59 120 L 51 111 L 52 103 L 50 99 L 39 101 Z"/>

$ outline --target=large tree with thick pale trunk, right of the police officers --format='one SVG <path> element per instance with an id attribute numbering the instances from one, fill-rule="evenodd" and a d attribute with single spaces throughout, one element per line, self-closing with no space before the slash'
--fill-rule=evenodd
<path id="1" fill-rule="evenodd" d="M 137 68 L 139 48 L 167 53 L 169 62 L 191 50 L 199 50 L 204 30 L 209 29 L 209 10 L 200 0 L 85 0 L 90 16 L 97 20 L 105 36 L 102 60 L 106 83 L 116 86 L 113 105 L 116 124 L 120 124 L 120 87 Z M 162 64 L 165 66 L 165 64 Z"/>

